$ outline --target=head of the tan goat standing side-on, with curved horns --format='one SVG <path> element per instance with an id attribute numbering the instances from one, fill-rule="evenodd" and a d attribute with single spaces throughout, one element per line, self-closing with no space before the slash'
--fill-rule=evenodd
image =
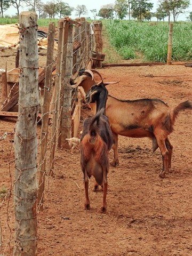
<path id="1" fill-rule="evenodd" d="M 74 79 L 70 79 L 71 87 L 76 88 L 77 86 L 82 86 L 86 93 L 87 91 L 89 91 L 91 86 L 96 83 L 93 73 L 98 74 L 99 77 L 102 79 L 101 74 L 95 69 L 81 69 Z"/>

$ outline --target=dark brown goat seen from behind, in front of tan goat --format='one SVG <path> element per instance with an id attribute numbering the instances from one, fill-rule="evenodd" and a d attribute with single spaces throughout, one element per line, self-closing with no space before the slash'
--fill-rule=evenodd
<path id="1" fill-rule="evenodd" d="M 101 212 L 107 208 L 107 173 L 109 171 L 108 153 L 113 145 L 113 135 L 109 126 L 108 117 L 105 114 L 105 106 L 108 91 L 101 83 L 91 87 L 86 94 L 86 101 L 97 102 L 97 113 L 85 119 L 81 135 L 81 169 L 84 174 L 85 186 L 85 210 L 90 209 L 89 180 L 92 175 L 95 178 L 93 191 L 97 191 L 99 185 L 103 188 L 103 204 Z"/>

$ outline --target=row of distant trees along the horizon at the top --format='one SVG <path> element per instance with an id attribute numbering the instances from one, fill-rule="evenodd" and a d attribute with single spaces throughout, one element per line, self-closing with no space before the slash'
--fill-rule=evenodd
<path id="1" fill-rule="evenodd" d="M 0 0 L 0 17 L 4 17 L 4 12 L 9 7 L 14 6 L 16 15 L 19 16 L 20 7 L 27 6 L 28 11 L 35 11 L 39 18 L 55 18 L 70 16 L 73 11 L 77 17 L 88 14 L 85 5 L 77 5 L 76 8 L 69 6 L 62 0 L 47 1 L 41 0 Z M 115 3 L 102 5 L 100 10 L 90 10 L 94 19 L 97 17 L 103 19 L 120 19 L 123 20 L 127 15 L 137 20 L 150 20 L 156 17 L 157 21 L 164 20 L 168 17 L 170 21 L 173 15 L 173 21 L 177 21 L 179 15 L 186 13 L 189 8 L 190 0 L 159 0 L 156 12 L 151 12 L 153 3 L 150 0 L 115 0 Z M 90 17 L 89 17 L 90 18 Z M 192 12 L 189 12 L 188 20 L 192 21 Z"/>

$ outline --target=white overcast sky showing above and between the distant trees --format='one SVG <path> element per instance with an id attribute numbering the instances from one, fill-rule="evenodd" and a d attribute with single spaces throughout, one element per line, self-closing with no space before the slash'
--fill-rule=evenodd
<path id="1" fill-rule="evenodd" d="M 49 2 L 51 0 L 42 0 L 43 2 Z M 71 7 L 76 7 L 78 4 L 84 4 L 87 8 L 87 10 L 89 11 L 89 13 L 87 15 L 84 15 L 85 17 L 90 17 L 91 19 L 93 19 L 93 15 L 92 13 L 90 12 L 90 10 L 93 10 L 93 9 L 96 9 L 97 11 L 99 11 L 101 9 L 101 6 L 102 5 L 106 5 L 106 4 L 114 4 L 115 3 L 115 0 L 97 0 L 97 1 L 90 1 L 90 0 L 81 0 L 81 2 L 79 2 L 79 0 L 63 0 L 63 2 L 65 3 L 68 3 L 69 6 Z M 156 9 L 157 9 L 157 6 L 158 6 L 158 0 L 150 0 L 151 3 L 154 4 L 154 8 L 153 10 L 151 10 L 152 12 L 155 12 Z M 192 11 L 192 0 L 190 0 L 190 8 L 189 8 L 189 11 Z M 27 11 L 20 8 L 19 10 L 20 12 L 21 11 Z M 15 13 L 17 13 L 17 10 L 12 6 L 10 7 L 9 10 L 7 10 L 4 14 L 9 14 L 10 16 L 11 15 L 14 15 Z M 181 15 L 179 18 L 178 18 L 178 21 L 179 20 L 186 20 L 186 17 L 188 16 L 188 14 L 183 14 Z M 76 15 L 75 15 L 75 11 L 72 13 L 71 17 L 72 19 L 74 18 L 77 18 Z"/>

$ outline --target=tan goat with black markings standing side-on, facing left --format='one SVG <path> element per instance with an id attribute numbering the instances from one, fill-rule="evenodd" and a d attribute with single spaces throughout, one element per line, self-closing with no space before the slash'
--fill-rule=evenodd
<path id="1" fill-rule="evenodd" d="M 95 83 L 94 75 L 87 69 L 82 70 L 79 75 L 71 79 L 71 86 L 82 86 L 86 93 Z M 108 95 L 106 115 L 114 138 L 114 159 L 110 164 L 119 164 L 118 134 L 132 138 L 149 137 L 153 141 L 153 153 L 158 147 L 161 150 L 163 168 L 159 177 L 165 178 L 165 174 L 169 173 L 171 168 L 173 150 L 168 135 L 173 132 L 175 118 L 185 109 L 192 109 L 191 101 L 184 101 L 172 109 L 159 99 L 119 100 Z"/>

